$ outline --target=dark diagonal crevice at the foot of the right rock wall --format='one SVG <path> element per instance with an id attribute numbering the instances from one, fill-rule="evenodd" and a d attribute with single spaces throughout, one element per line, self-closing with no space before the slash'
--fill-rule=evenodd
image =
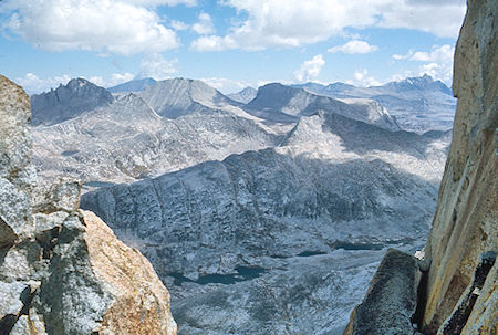
<path id="1" fill-rule="evenodd" d="M 444 335 L 461 333 L 461 329 L 467 324 L 467 320 L 473 312 L 474 304 L 479 296 L 479 291 L 483 289 L 486 278 L 495 264 L 496 255 L 497 252 L 495 251 L 488 251 L 481 254 L 480 262 L 474 272 L 474 281 L 467 290 L 466 296 L 460 301 L 458 307 L 455 310 L 448 322 L 446 322 L 443 329 Z"/>

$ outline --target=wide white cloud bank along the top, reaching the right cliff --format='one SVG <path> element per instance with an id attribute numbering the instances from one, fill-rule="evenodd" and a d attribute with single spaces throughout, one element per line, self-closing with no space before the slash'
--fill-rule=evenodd
<path id="1" fill-rule="evenodd" d="M 407 28 L 456 38 L 465 15 L 465 0 L 222 0 L 241 21 L 226 35 L 203 36 L 195 50 L 262 50 L 301 46 L 343 34 L 344 28 Z M 444 13 L 444 14 L 438 14 Z"/>

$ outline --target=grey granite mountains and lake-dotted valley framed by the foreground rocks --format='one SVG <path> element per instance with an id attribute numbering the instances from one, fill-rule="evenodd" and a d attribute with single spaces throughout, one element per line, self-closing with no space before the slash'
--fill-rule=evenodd
<path id="1" fill-rule="evenodd" d="M 309 87 L 245 103 L 199 81 L 135 84 L 91 111 L 79 103 L 102 87 L 74 92 L 77 112 L 33 128 L 33 160 L 82 179 L 81 207 L 151 260 L 178 334 L 340 334 L 386 248 L 424 244 L 449 132 Z"/>

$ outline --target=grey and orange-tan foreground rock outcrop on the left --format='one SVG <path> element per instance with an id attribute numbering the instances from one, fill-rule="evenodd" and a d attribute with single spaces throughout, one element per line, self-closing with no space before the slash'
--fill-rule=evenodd
<path id="1" fill-rule="evenodd" d="M 81 185 L 42 187 L 29 98 L 0 76 L 0 334 L 176 334 L 148 261 L 81 212 Z"/>

